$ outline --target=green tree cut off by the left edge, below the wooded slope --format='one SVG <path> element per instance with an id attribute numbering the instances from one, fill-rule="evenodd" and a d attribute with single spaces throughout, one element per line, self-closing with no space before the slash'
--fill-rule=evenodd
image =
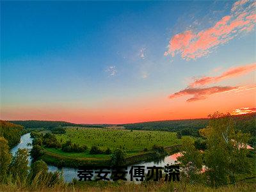
<path id="1" fill-rule="evenodd" d="M 6 178 L 8 166 L 11 162 L 12 154 L 10 154 L 8 141 L 0 137 L 0 182 Z"/>

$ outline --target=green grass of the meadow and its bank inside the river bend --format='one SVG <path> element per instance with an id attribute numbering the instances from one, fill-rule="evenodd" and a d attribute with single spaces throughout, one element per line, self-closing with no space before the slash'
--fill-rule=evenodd
<path id="1" fill-rule="evenodd" d="M 65 143 L 71 140 L 72 143 L 86 145 L 85 152 L 63 152 L 61 148 L 45 148 L 45 154 L 40 157 L 48 164 L 60 166 L 102 166 L 109 165 L 110 154 L 90 154 L 90 148 L 96 145 L 102 150 L 110 148 L 124 148 L 127 151 L 127 164 L 138 163 L 154 159 L 153 145 L 162 145 L 167 151 L 180 145 L 181 140 L 177 139 L 175 132 L 166 131 L 129 131 L 125 129 L 102 129 L 102 128 L 81 128 L 66 127 L 65 134 L 56 134 L 56 138 Z M 147 148 L 147 152 L 143 151 Z"/>

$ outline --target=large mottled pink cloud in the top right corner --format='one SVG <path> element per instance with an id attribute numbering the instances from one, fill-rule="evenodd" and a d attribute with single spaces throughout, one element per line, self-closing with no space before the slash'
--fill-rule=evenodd
<path id="1" fill-rule="evenodd" d="M 185 60 L 200 58 L 225 44 L 242 32 L 253 30 L 256 21 L 256 2 L 241 0 L 233 4 L 230 15 L 222 17 L 214 26 L 196 33 L 188 30 L 172 36 L 164 56 L 180 54 Z"/>

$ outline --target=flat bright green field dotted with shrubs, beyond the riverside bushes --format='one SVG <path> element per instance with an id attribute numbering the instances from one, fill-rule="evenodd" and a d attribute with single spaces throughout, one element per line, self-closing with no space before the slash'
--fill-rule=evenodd
<path id="1" fill-rule="evenodd" d="M 165 131 L 130 131 L 125 129 L 100 129 L 67 127 L 65 134 L 57 134 L 61 143 L 71 140 L 72 143 L 87 145 L 88 148 L 96 145 L 102 150 L 124 148 L 127 152 L 138 152 L 144 148 L 151 149 L 153 145 L 169 147 L 180 144 L 175 132 Z"/>

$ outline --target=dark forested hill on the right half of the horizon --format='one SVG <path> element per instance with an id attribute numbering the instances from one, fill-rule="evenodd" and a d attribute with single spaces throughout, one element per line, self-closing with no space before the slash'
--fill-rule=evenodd
<path id="1" fill-rule="evenodd" d="M 243 132 L 250 132 L 252 136 L 255 136 L 256 113 L 250 113 L 245 115 L 234 115 L 236 122 L 236 129 Z M 198 136 L 198 129 L 206 127 L 209 123 L 209 118 L 197 118 L 186 120 L 164 120 L 156 122 L 141 122 L 136 124 L 124 124 L 125 129 L 133 130 L 154 130 L 154 131 L 174 131 L 181 132 L 182 135 Z"/>

